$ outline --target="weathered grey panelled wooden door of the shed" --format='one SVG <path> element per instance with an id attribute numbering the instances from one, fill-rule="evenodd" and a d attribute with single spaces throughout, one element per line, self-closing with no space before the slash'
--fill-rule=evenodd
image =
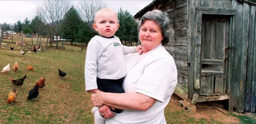
<path id="1" fill-rule="evenodd" d="M 228 45 L 229 18 L 203 16 L 201 28 L 200 94 L 226 92 L 225 48 Z"/>

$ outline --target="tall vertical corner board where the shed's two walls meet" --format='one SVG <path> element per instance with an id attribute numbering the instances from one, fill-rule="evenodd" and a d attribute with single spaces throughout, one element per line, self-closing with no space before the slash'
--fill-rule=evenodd
<path id="1" fill-rule="evenodd" d="M 188 83 L 188 98 L 193 98 L 194 96 L 194 71 L 195 71 L 195 27 L 196 27 L 196 2 L 195 0 L 188 0 L 187 1 L 187 8 L 189 9 L 187 12 L 187 30 L 188 30 L 188 38 L 187 38 L 187 55 L 188 55 L 188 62 L 190 63 L 189 65 L 189 83 Z"/>

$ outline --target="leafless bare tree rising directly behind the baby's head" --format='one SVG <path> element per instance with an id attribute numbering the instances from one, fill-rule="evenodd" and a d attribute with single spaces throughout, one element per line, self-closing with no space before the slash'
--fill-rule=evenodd
<path id="1" fill-rule="evenodd" d="M 101 0 L 81 0 L 78 4 L 78 11 L 81 15 L 81 18 L 89 25 L 94 22 L 95 13 L 102 9 L 106 8 L 107 4 L 105 1 Z"/>

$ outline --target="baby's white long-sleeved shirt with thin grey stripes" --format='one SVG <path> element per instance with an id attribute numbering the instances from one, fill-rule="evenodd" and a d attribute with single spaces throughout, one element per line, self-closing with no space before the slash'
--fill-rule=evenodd
<path id="1" fill-rule="evenodd" d="M 136 47 L 123 46 L 118 37 L 94 36 L 87 46 L 85 58 L 85 90 L 98 89 L 96 78 L 120 79 L 126 75 L 124 56 Z"/>

